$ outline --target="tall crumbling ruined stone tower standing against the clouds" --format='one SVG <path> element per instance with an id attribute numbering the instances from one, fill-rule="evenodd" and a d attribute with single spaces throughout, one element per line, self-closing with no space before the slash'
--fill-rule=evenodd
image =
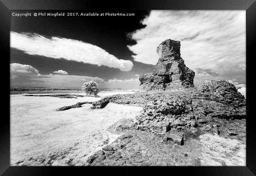
<path id="1" fill-rule="evenodd" d="M 180 57 L 180 41 L 165 40 L 156 49 L 159 60 L 153 73 L 139 76 L 139 91 L 173 91 L 194 87 L 195 72 Z"/>

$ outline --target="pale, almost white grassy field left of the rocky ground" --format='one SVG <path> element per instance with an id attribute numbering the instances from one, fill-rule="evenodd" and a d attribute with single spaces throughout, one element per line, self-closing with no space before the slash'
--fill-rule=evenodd
<path id="1" fill-rule="evenodd" d="M 106 129 L 142 109 L 109 103 L 104 109 L 91 110 L 91 104 L 84 104 L 54 111 L 99 99 L 11 96 L 11 165 L 86 165 L 89 155 L 118 137 Z"/>

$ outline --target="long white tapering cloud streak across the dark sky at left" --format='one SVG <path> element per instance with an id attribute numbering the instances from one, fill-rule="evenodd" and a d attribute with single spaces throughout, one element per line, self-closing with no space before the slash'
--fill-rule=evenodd
<path id="1" fill-rule="evenodd" d="M 104 49 L 83 41 L 61 37 L 46 37 L 35 33 L 10 33 L 11 47 L 26 54 L 46 56 L 48 58 L 66 59 L 87 64 L 105 65 L 130 71 L 130 60 L 118 59 Z"/>

